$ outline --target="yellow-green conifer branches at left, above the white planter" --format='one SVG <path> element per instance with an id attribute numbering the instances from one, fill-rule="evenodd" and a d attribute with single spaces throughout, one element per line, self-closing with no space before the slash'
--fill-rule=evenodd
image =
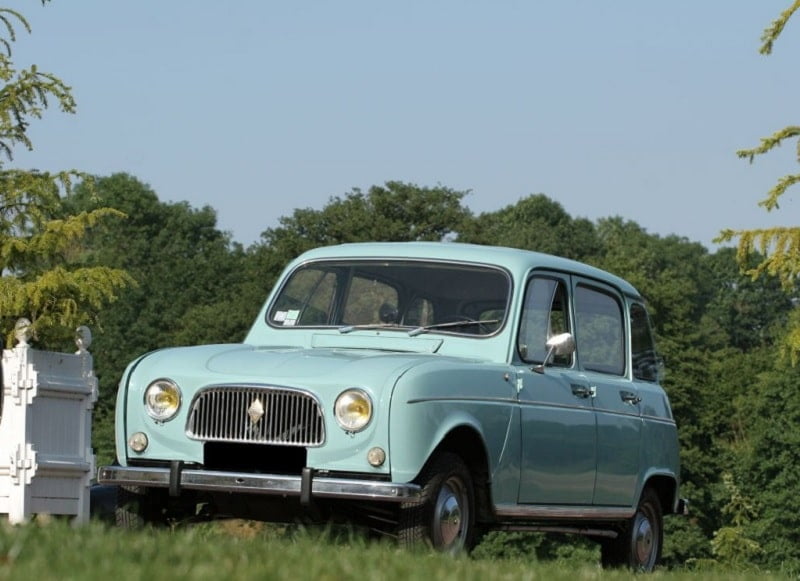
<path id="1" fill-rule="evenodd" d="M 43 4 L 46 0 L 43 0 Z M 32 148 L 28 126 L 55 101 L 75 112 L 70 88 L 36 66 L 17 70 L 11 60 L 19 27 L 27 20 L 0 8 L 0 313 L 9 331 L 18 317 L 27 317 L 43 343 L 59 343 L 67 329 L 90 322 L 93 313 L 113 301 L 130 283 L 121 270 L 75 267 L 86 232 L 118 215 L 108 208 L 65 216 L 60 207 L 72 189 L 76 171 L 55 174 L 9 169 L 16 146 Z M 10 338 L 10 337 L 9 337 Z"/>

